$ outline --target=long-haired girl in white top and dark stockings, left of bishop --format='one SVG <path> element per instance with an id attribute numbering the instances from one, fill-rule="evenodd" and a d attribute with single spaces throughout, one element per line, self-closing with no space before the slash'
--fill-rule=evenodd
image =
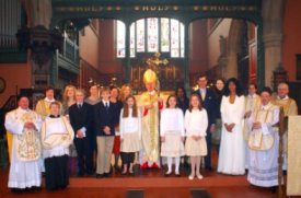
<path id="1" fill-rule="evenodd" d="M 141 114 L 137 108 L 136 100 L 129 95 L 120 112 L 120 155 L 124 164 L 121 174 L 127 171 L 134 174 L 135 153 L 141 149 Z"/>

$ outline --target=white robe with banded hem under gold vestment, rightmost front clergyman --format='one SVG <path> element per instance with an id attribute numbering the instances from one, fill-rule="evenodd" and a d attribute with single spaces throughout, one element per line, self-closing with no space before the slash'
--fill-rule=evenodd
<path id="1" fill-rule="evenodd" d="M 271 104 L 263 106 L 261 108 L 268 109 Z M 273 135 L 274 144 L 273 148 L 265 151 L 256 151 L 250 149 L 250 160 L 248 160 L 248 174 L 247 180 L 255 185 L 262 187 L 271 187 L 278 185 L 278 147 L 279 147 L 279 135 L 278 131 L 271 127 L 279 121 L 279 108 L 274 107 L 273 117 L 269 123 L 262 123 L 263 135 Z M 248 120 L 248 125 L 253 124 L 254 116 Z"/>

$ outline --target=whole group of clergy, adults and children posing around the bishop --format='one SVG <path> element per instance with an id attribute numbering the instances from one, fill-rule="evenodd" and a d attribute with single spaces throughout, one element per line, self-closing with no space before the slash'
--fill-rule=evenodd
<path id="1" fill-rule="evenodd" d="M 188 178 L 201 179 L 202 158 L 205 168 L 213 170 L 212 144 L 218 148 L 219 173 L 243 175 L 248 170 L 251 184 L 278 185 L 279 106 L 286 116 L 297 114 L 288 84 L 278 85 L 275 98 L 269 88 L 257 95 L 255 84 L 248 85 L 244 96 L 234 78 L 225 84 L 219 79 L 211 89 L 207 77 L 200 75 L 189 98 L 180 88 L 165 100 L 155 90 L 157 81 L 155 73 L 147 70 L 147 91 L 139 97 L 132 96 L 129 85 L 120 90 L 92 85 L 88 97 L 83 90 L 68 85 L 62 103 L 49 88 L 35 110 L 21 96 L 19 107 L 5 117 L 5 128 L 13 135 L 8 186 L 14 190 L 39 187 L 45 172 L 47 189 L 66 188 L 68 160 L 74 152 L 78 176 L 109 177 L 113 153 L 114 167 L 121 158 L 121 174 L 134 174 L 135 159 L 141 168 L 160 168 L 164 156 L 166 176 L 172 174 L 173 160 L 180 176 L 181 158 L 187 163 L 188 156 Z"/>

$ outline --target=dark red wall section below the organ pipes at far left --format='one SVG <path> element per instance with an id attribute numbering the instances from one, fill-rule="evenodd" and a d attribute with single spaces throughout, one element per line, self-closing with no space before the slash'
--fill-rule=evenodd
<path id="1" fill-rule="evenodd" d="M 31 62 L 25 63 L 0 63 L 0 77 L 4 79 L 7 88 L 0 94 L 0 107 L 4 105 L 11 95 L 15 95 L 16 86 L 30 89 L 32 86 Z"/>

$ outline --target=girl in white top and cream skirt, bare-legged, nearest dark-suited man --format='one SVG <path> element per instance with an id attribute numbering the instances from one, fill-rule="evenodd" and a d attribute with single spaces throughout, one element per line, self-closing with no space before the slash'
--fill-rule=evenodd
<path id="1" fill-rule="evenodd" d="M 201 158 L 207 155 L 206 130 L 208 127 L 208 115 L 202 108 L 201 101 L 197 94 L 190 96 L 189 108 L 185 113 L 186 142 L 185 152 L 190 156 L 192 173 L 189 179 L 195 175 L 202 178 L 199 173 Z"/>

